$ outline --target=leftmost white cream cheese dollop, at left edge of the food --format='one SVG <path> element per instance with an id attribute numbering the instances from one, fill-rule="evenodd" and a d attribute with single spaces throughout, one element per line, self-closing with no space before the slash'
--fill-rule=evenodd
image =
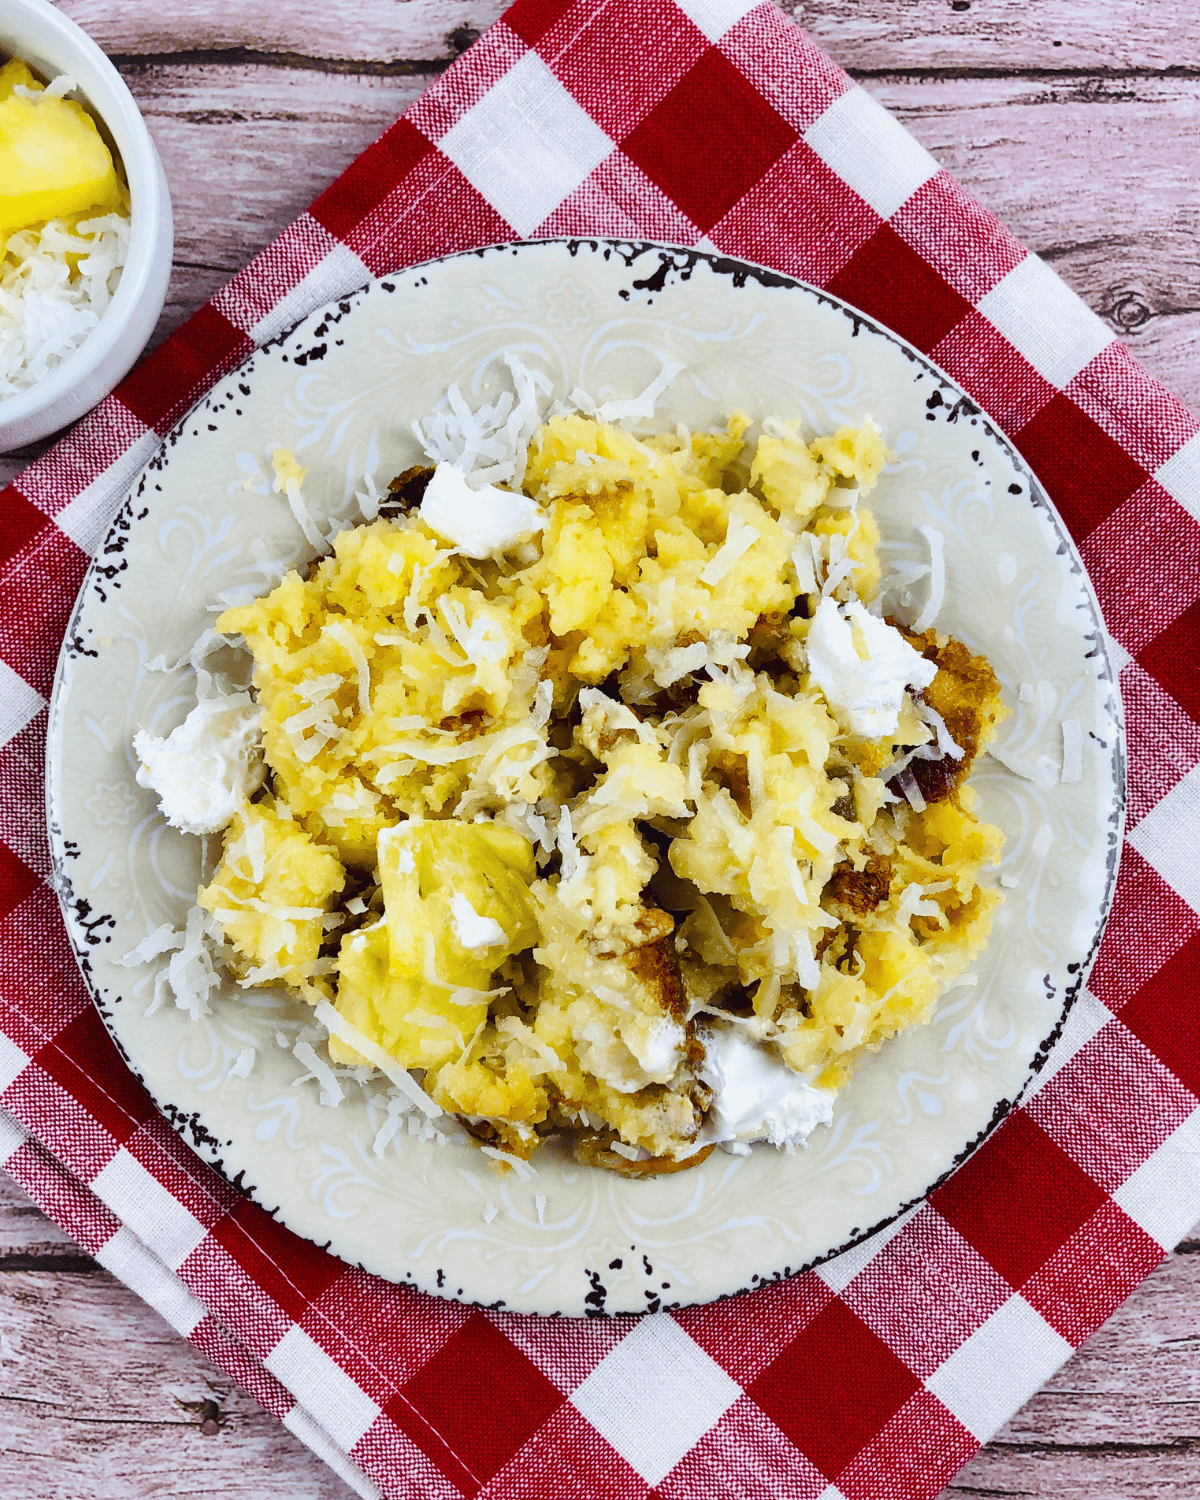
<path id="1" fill-rule="evenodd" d="M 201 698 L 165 740 L 147 729 L 134 735 L 138 786 L 158 792 L 172 828 L 219 832 L 262 784 L 261 724 L 249 693 Z"/>

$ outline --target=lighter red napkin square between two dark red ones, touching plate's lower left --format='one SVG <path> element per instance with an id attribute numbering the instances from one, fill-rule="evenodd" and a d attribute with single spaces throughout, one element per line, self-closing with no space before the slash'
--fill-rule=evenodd
<path id="1" fill-rule="evenodd" d="M 304 1332 L 380 1407 L 471 1317 L 471 1308 L 426 1298 L 348 1268 L 314 1299 Z"/>

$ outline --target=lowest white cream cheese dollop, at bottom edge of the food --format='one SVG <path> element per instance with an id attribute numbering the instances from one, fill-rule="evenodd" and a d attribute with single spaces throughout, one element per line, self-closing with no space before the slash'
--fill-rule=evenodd
<path id="1" fill-rule="evenodd" d="M 702 1144 L 798 1144 L 832 1119 L 834 1090 L 813 1088 L 792 1072 L 770 1044 L 720 1023 L 704 1028 L 700 1041 L 705 1060 L 699 1078 L 712 1090 Z"/>

